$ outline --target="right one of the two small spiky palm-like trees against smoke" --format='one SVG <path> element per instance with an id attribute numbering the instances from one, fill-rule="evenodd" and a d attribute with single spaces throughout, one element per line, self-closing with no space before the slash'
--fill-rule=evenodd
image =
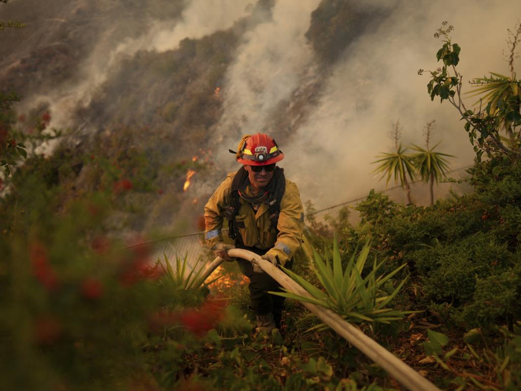
<path id="1" fill-rule="evenodd" d="M 432 148 L 429 146 L 430 134 L 432 129 L 432 124 L 434 121 L 427 124 L 427 133 L 426 133 L 426 144 L 427 148 L 421 148 L 418 145 L 413 144 L 413 149 L 417 151 L 412 158 L 413 164 L 421 178 L 425 183 L 430 186 L 430 205 L 434 204 L 434 182 L 438 183 L 442 178 L 446 177 L 446 174 L 449 171 L 448 161 L 445 159 L 446 157 L 454 157 L 453 155 L 448 155 L 446 153 L 435 152 L 434 150 L 438 146 L 436 144 Z"/>

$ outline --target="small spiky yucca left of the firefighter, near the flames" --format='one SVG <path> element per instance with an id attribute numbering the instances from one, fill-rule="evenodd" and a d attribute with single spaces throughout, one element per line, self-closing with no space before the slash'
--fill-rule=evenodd
<path id="1" fill-rule="evenodd" d="M 172 266 L 170 265 L 170 262 L 168 261 L 168 258 L 166 254 L 164 254 L 165 257 L 165 264 L 160 262 L 159 260 L 157 263 L 160 264 L 161 268 L 163 269 L 163 278 L 160 279 L 160 283 L 164 285 L 169 285 L 174 290 L 177 289 L 197 289 L 201 286 L 203 283 L 200 279 L 202 272 L 204 271 L 204 265 L 197 268 L 199 265 L 199 262 L 201 261 L 201 258 L 197 259 L 197 262 L 195 263 L 194 267 L 188 274 L 188 276 L 185 276 L 185 273 L 187 271 L 187 259 L 188 254 L 184 256 L 184 259 L 181 259 L 179 255 L 176 254 L 176 271 L 173 271 Z M 205 285 L 210 285 L 217 281 L 220 277 L 217 277 L 210 282 L 206 283 Z"/>

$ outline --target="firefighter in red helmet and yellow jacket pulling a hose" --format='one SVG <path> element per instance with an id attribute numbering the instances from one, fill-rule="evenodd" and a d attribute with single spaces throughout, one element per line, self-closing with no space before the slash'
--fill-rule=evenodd
<path id="1" fill-rule="evenodd" d="M 228 250 L 250 250 L 275 266 L 291 269 L 304 229 L 304 209 L 299 189 L 284 177 L 277 162 L 284 158 L 274 139 L 263 133 L 244 136 L 235 160 L 242 166 L 229 173 L 204 207 L 205 241 L 225 261 L 235 261 Z M 221 228 L 228 221 L 234 245 L 223 241 Z M 251 307 L 257 331 L 280 328 L 284 298 L 267 291 L 280 291 L 279 284 L 256 264 L 237 259 L 241 272 L 250 279 Z"/>

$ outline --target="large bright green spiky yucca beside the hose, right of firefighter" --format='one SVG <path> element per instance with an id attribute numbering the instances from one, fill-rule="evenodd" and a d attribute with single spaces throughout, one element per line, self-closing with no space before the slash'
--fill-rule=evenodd
<path id="1" fill-rule="evenodd" d="M 391 321 L 403 319 L 405 315 L 413 313 L 414 311 L 399 311 L 386 308 L 402 289 L 407 277 L 394 288 L 391 294 L 388 294 L 382 289 L 383 285 L 386 284 L 390 278 L 405 267 L 405 264 L 387 275 L 376 277 L 376 273 L 384 261 L 377 263 L 375 257 L 373 270 L 367 276 L 362 277 L 362 270 L 364 269 L 370 250 L 370 241 L 366 241 L 358 255 L 357 250 L 358 249 L 351 255 L 345 270 L 342 270 L 340 250 L 336 237 L 333 242 L 332 265 L 328 258 L 326 258 L 324 262 L 320 258 L 320 255 L 314 251 L 312 266 L 322 285 L 321 289 L 307 282 L 303 277 L 283 268 L 284 272 L 295 280 L 295 282 L 299 283 L 311 297 L 300 296 L 288 291 L 270 293 L 289 299 L 317 304 L 318 306 L 336 312 L 346 321 L 353 323 L 369 322 L 373 324 L 376 322 L 388 324 Z M 316 327 L 327 328 L 327 325 L 320 324 Z"/>

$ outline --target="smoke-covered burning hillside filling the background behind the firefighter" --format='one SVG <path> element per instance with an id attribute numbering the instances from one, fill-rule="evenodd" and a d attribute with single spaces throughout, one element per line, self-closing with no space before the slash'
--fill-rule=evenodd
<path id="1" fill-rule="evenodd" d="M 472 4 L 14 1 L 2 7 L 2 19 L 27 28 L 0 35 L 8 53 L 0 87 L 24 96 L 17 111 L 28 118 L 20 125 L 26 130 L 46 111 L 49 127 L 68 129 L 59 148 L 114 140 L 114 149 L 143 151 L 151 165 L 170 167 L 154 178 L 172 193 L 170 202 L 146 202 L 133 229 L 195 221 L 238 168 L 228 149 L 254 132 L 280 144 L 280 166 L 302 199 L 326 207 L 385 188 L 371 162 L 392 148 L 388 133 L 398 119 L 402 142 L 419 145 L 425 123 L 436 119 L 433 138 L 457 156 L 451 165 L 472 162 L 457 116 L 431 103 L 426 79 L 416 75 L 436 66 L 432 33 L 441 20 L 456 26 L 467 79 L 506 68 L 504 30 L 519 5 Z M 473 21 L 485 19 L 493 33 L 476 40 Z M 484 62 L 483 52 L 493 55 Z M 418 190 L 417 202 L 424 193 Z"/>

